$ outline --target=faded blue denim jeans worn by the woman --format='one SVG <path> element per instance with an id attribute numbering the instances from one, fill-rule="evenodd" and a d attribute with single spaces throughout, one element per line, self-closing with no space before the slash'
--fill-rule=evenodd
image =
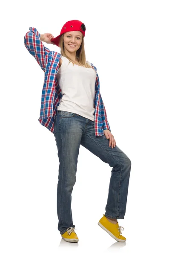
<path id="1" fill-rule="evenodd" d="M 77 157 L 80 145 L 108 163 L 112 169 L 105 216 L 123 219 L 129 187 L 131 161 L 117 147 L 109 147 L 106 136 L 95 136 L 94 121 L 79 114 L 59 111 L 54 119 L 54 137 L 59 157 L 57 183 L 57 216 L 60 234 L 75 227 L 72 221 L 72 190 L 76 182 Z"/>

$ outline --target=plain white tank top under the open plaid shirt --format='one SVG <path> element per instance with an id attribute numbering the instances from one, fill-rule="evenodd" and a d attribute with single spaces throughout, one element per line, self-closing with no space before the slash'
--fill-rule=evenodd
<path id="1" fill-rule="evenodd" d="M 92 121 L 94 117 L 96 72 L 70 62 L 62 56 L 62 65 L 57 72 L 57 81 L 62 91 L 62 98 L 57 110 L 73 112 Z"/>

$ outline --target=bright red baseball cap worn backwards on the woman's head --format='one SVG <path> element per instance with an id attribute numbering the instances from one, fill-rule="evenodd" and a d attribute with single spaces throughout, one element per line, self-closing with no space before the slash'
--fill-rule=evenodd
<path id="1" fill-rule="evenodd" d="M 80 32 L 82 32 L 83 37 L 85 37 L 86 27 L 85 27 L 85 24 L 82 23 L 80 20 L 69 20 L 63 25 L 63 27 L 60 31 L 60 35 L 66 33 L 66 32 L 69 32 L 69 31 L 80 31 Z M 54 44 L 56 44 L 58 47 L 59 47 L 60 35 L 51 39 L 51 41 Z"/>

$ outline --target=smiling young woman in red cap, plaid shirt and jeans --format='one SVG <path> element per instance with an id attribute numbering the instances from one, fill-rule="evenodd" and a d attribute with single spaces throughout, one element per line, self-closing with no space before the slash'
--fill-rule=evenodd
<path id="1" fill-rule="evenodd" d="M 112 167 L 106 212 L 98 225 L 115 240 L 125 242 L 124 228 L 117 219 L 124 219 L 126 212 L 131 161 L 117 147 L 111 133 L 97 69 L 86 61 L 85 32 L 84 23 L 69 20 L 55 38 L 51 33 L 40 35 L 32 27 L 24 37 L 24 45 L 45 73 L 38 120 L 54 134 L 58 149 L 58 230 L 65 241 L 79 241 L 71 201 L 79 148 L 83 145 Z M 60 53 L 50 51 L 42 41 L 60 47 Z"/>

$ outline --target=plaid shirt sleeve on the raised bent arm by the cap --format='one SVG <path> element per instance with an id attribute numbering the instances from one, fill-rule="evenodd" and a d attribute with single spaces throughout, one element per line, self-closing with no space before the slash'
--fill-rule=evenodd
<path id="1" fill-rule="evenodd" d="M 42 41 L 40 41 L 40 33 L 36 28 L 29 27 L 29 32 L 24 36 L 24 45 L 45 72 L 50 49 L 45 47 Z"/>

